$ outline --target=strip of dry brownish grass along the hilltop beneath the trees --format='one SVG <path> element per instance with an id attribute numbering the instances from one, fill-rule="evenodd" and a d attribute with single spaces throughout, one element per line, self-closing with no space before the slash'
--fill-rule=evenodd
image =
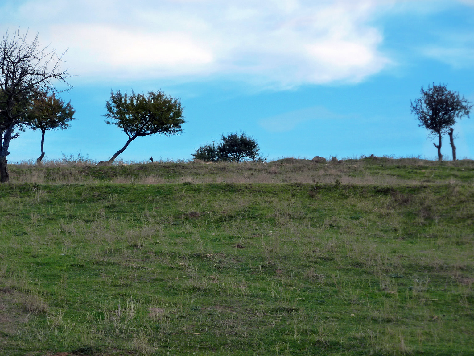
<path id="1" fill-rule="evenodd" d="M 469 183 L 474 160 L 429 161 L 424 159 L 365 158 L 338 163 L 314 163 L 307 159 L 280 159 L 269 163 L 163 162 L 95 167 L 91 162 L 63 160 L 43 167 L 10 165 L 13 183 L 334 183 L 433 184 Z"/>

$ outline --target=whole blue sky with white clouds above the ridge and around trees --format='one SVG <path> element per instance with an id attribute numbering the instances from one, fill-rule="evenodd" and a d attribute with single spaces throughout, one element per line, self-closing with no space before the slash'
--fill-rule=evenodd
<path id="1" fill-rule="evenodd" d="M 127 136 L 103 116 L 116 90 L 184 106 L 181 135 L 137 138 L 126 161 L 191 159 L 229 132 L 268 159 L 436 159 L 410 101 L 441 83 L 474 102 L 474 0 L 2 0 L 0 24 L 37 34 L 73 75 L 61 97 L 75 120 L 46 132 L 46 159 L 119 150 Z M 474 157 L 471 116 L 458 159 Z M 39 157 L 40 132 L 19 133 L 9 161 Z"/>

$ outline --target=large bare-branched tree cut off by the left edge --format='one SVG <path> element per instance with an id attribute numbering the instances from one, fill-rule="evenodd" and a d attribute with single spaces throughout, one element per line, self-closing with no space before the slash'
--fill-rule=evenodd
<path id="1" fill-rule="evenodd" d="M 61 71 L 64 53 L 57 56 L 55 49 L 41 47 L 38 35 L 31 42 L 27 33 L 20 35 L 7 30 L 0 42 L 0 181 L 8 182 L 7 156 L 10 141 L 19 137 L 27 125 L 27 110 L 34 95 L 59 93 L 57 82 L 72 86 L 66 81 L 70 75 Z M 63 90 L 64 91 L 64 90 Z"/>

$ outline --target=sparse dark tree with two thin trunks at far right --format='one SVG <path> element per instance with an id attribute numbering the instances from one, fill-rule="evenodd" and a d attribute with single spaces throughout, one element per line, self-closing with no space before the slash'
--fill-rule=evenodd
<path id="1" fill-rule="evenodd" d="M 414 103 L 410 102 L 411 112 L 418 117 L 420 122 L 418 126 L 429 130 L 429 135 L 438 136 L 438 145 L 433 142 L 438 149 L 438 161 L 443 160 L 441 138 L 450 132 L 453 159 L 456 159 L 452 126 L 456 123 L 456 118 L 469 116 L 472 105 L 469 105 L 469 101 L 464 96 L 461 98 L 457 92 L 447 90 L 446 84 L 433 83 L 433 86 L 428 85 L 426 91 L 421 87 L 420 93 L 421 98 L 416 99 Z"/>

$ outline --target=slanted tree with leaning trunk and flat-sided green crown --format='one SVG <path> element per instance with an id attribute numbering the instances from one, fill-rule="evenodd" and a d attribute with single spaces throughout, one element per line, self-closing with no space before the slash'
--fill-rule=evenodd
<path id="1" fill-rule="evenodd" d="M 135 94 L 133 91 L 131 95 L 122 95 L 119 90 L 115 94 L 110 92 L 106 108 L 107 114 L 104 116 L 108 120 L 105 122 L 122 129 L 128 140 L 111 159 L 100 161 L 98 165 L 111 164 L 137 137 L 156 133 L 164 136 L 177 135 L 181 133 L 181 125 L 185 122 L 180 100 L 161 91 L 148 92 L 148 95 Z"/>

